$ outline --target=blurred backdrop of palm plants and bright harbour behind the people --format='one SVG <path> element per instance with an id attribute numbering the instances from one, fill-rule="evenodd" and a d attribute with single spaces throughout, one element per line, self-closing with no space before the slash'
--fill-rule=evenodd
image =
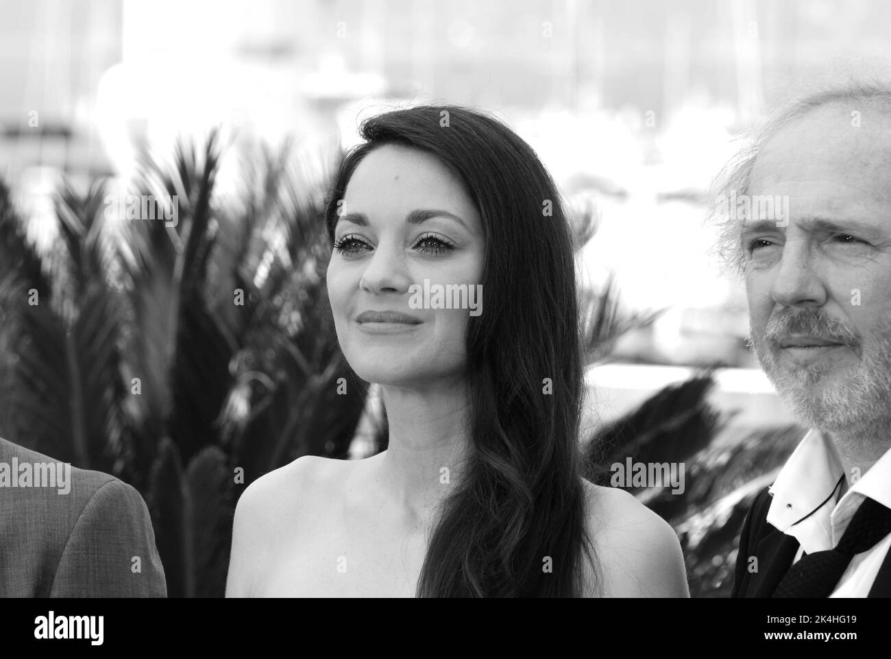
<path id="1" fill-rule="evenodd" d="M 386 444 L 324 313 L 332 169 L 368 114 L 466 104 L 532 144 L 588 239 L 591 477 L 683 462 L 683 495 L 634 493 L 691 593 L 725 597 L 803 432 L 702 195 L 807 80 L 889 57 L 881 0 L 0 0 L 0 436 L 134 484 L 170 595 L 221 596 L 249 482 Z M 176 194 L 176 226 L 110 210 L 126 194 L 156 218 Z"/>

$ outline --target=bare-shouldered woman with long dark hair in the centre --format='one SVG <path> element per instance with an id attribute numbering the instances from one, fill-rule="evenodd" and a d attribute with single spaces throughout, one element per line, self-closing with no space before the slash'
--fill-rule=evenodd
<path id="1" fill-rule="evenodd" d="M 252 483 L 227 596 L 687 596 L 671 527 L 581 476 L 573 245 L 535 152 L 455 106 L 362 136 L 327 202 L 327 279 L 388 449 Z"/>

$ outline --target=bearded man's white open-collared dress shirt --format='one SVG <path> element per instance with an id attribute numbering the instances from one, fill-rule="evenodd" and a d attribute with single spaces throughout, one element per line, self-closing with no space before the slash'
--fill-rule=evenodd
<path id="1" fill-rule="evenodd" d="M 801 547 L 793 563 L 805 551 L 813 554 L 838 545 L 864 498 L 891 508 L 891 450 L 860 478 L 854 480 L 848 474 L 850 488 L 839 499 L 841 488 L 837 485 L 844 475 L 832 442 L 816 430 L 805 435 L 777 475 L 769 490 L 773 499 L 767 522 L 798 540 Z M 869 595 L 888 548 L 891 533 L 870 550 L 855 555 L 830 597 Z"/>

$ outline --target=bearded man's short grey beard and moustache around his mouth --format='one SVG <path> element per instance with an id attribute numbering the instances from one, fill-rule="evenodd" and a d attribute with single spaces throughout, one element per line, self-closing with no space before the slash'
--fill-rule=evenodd
<path id="1" fill-rule="evenodd" d="M 846 345 L 860 358 L 850 375 L 833 375 L 827 359 L 807 366 L 781 360 L 780 341 L 789 334 L 820 336 Z M 749 341 L 780 396 L 806 424 L 838 435 L 868 433 L 891 423 L 891 319 L 868 340 L 821 309 L 781 309 L 764 336 Z"/>

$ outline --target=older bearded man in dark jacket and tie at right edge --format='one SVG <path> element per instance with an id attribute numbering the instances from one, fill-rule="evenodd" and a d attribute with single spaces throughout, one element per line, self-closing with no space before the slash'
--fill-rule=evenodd
<path id="1" fill-rule="evenodd" d="M 732 597 L 891 596 L 891 86 L 797 100 L 719 181 L 750 342 L 810 428 L 748 511 Z"/>

